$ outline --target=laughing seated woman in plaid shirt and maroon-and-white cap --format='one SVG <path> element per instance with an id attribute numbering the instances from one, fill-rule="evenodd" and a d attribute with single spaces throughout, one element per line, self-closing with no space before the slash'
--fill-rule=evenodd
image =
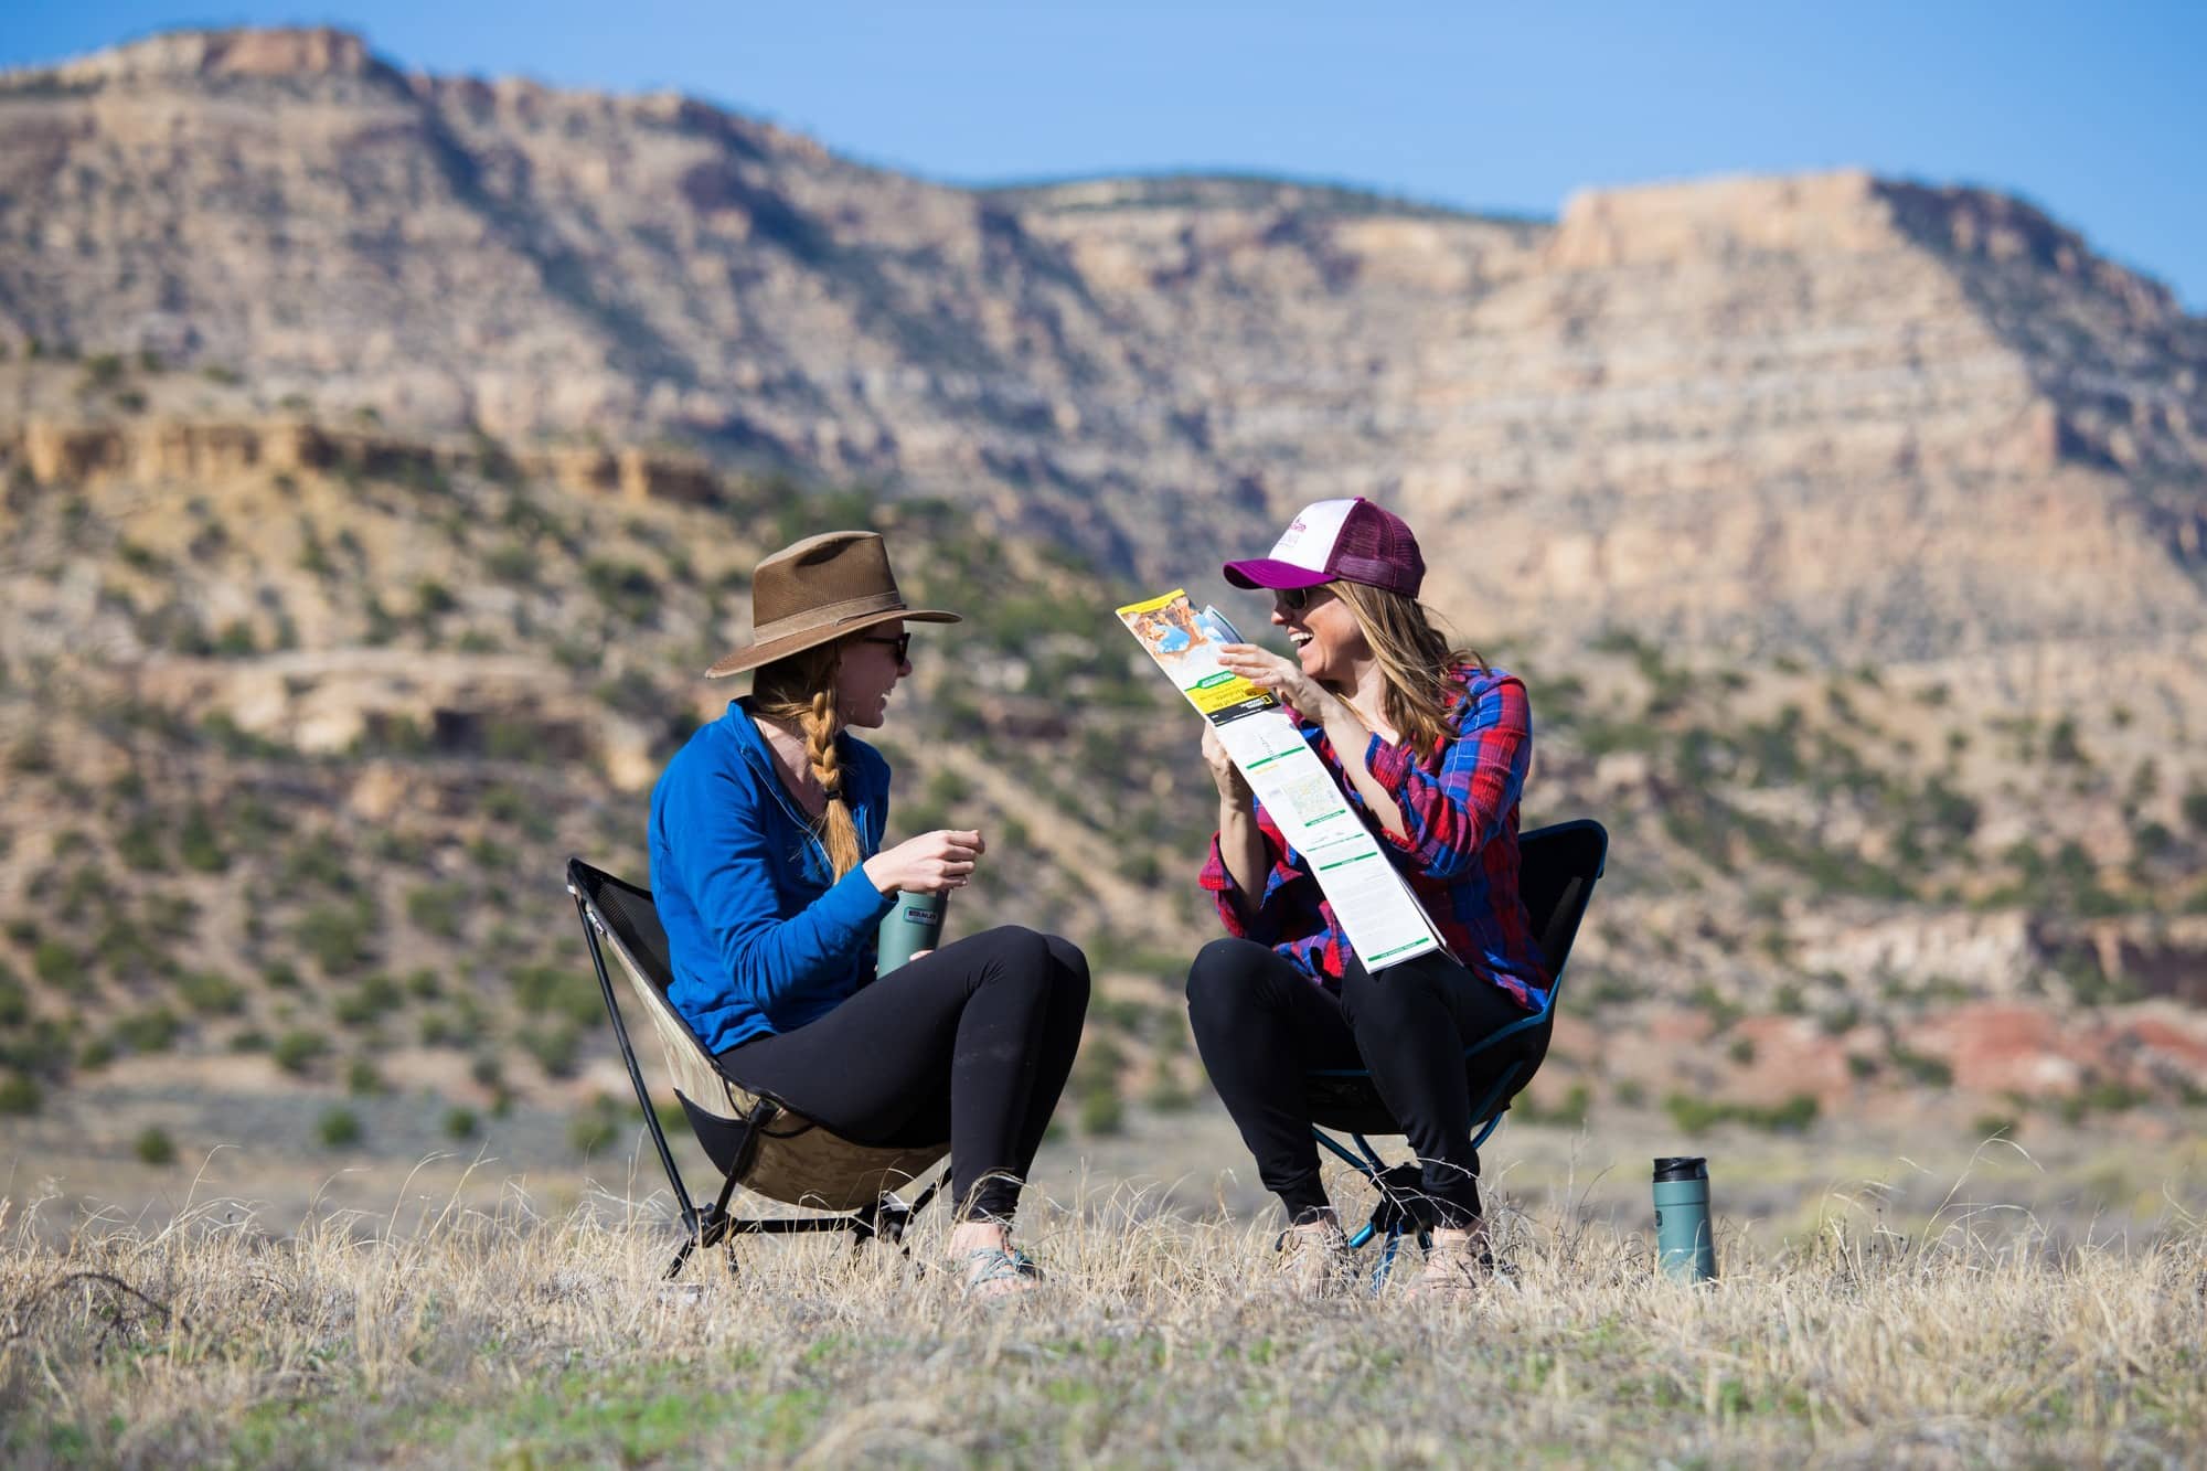
<path id="1" fill-rule="evenodd" d="M 1273 594 L 1296 658 L 1227 645 L 1220 663 L 1271 689 L 1426 906 L 1448 952 L 1368 972 L 1300 853 L 1205 731 L 1218 835 L 1201 883 L 1229 939 L 1187 972 L 1203 1067 L 1287 1208 L 1287 1283 L 1329 1292 L 1353 1277 L 1318 1177 L 1304 1100 L 1313 1069 L 1371 1069 L 1424 1164 L 1432 1250 L 1415 1288 L 1470 1292 L 1485 1261 L 1472 1096 L 1516 1058 L 1465 1049 L 1547 1001 L 1547 967 L 1518 897 L 1518 793 L 1532 762 L 1525 685 L 1450 647 L 1417 601 L 1410 528 L 1362 497 L 1298 512 L 1271 557 L 1234 561 Z"/>

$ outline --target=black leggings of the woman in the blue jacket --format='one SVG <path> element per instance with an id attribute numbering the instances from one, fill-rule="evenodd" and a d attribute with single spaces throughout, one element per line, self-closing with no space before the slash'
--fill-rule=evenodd
<path id="1" fill-rule="evenodd" d="M 951 1142 L 958 1219 L 1009 1221 L 1073 1071 L 1088 961 L 1006 925 L 892 970 L 828 1016 L 719 1054 L 856 1144 Z"/>

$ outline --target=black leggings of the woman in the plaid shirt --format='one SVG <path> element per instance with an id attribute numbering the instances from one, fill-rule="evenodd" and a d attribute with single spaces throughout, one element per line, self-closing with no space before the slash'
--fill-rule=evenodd
<path id="1" fill-rule="evenodd" d="M 1337 996 L 1245 939 L 1212 941 L 1187 970 L 1187 1020 L 1203 1067 L 1256 1155 L 1258 1177 L 1296 1224 L 1329 1210 L 1302 1076 L 1335 1067 L 1371 1069 L 1379 1102 L 1424 1162 L 1428 1221 L 1474 1221 L 1472 1098 L 1536 1043 L 1527 1029 L 1472 1058 L 1463 1049 L 1525 1016 L 1501 987 L 1439 952 L 1377 976 L 1351 959 Z"/>

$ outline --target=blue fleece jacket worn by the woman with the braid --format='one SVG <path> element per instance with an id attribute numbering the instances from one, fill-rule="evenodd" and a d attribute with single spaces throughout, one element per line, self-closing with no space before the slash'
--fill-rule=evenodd
<path id="1" fill-rule="evenodd" d="M 892 899 L 863 868 L 841 879 L 775 775 L 750 700 L 675 751 L 651 791 L 651 897 L 667 928 L 669 998 L 711 1051 L 803 1027 L 874 978 Z M 881 850 L 889 762 L 836 738 L 865 850 Z"/>

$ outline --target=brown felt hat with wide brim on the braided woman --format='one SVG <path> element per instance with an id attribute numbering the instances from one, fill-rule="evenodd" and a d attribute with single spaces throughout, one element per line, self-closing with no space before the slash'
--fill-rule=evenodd
<path id="1" fill-rule="evenodd" d="M 876 623 L 960 623 L 905 607 L 889 548 L 874 532 L 821 532 L 786 546 L 750 574 L 750 643 L 704 671 L 708 680 L 770 665 Z"/>

